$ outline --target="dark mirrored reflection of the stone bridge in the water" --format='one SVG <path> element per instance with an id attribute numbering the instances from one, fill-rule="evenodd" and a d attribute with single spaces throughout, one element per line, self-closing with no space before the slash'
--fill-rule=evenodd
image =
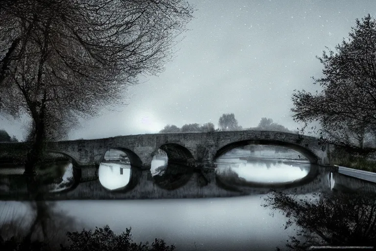
<path id="1" fill-rule="evenodd" d="M 72 165 L 72 183 L 65 190 L 39 189 L 40 200 L 109 200 L 109 199 L 178 199 L 232 197 L 265 194 L 271 189 L 286 193 L 306 194 L 330 190 L 329 173 L 337 167 L 311 165 L 304 178 L 278 184 L 242 182 L 221 178 L 215 167 L 195 168 L 168 164 L 163 174 L 152 176 L 151 170 L 130 167 L 131 176 L 126 186 L 109 190 L 99 181 L 98 166 L 77 168 Z M 30 181 L 22 175 L 2 176 L 2 184 L 10 189 L 0 192 L 1 200 L 34 200 Z M 35 184 L 35 183 L 34 183 Z M 38 185 L 38 184 L 37 184 Z"/>

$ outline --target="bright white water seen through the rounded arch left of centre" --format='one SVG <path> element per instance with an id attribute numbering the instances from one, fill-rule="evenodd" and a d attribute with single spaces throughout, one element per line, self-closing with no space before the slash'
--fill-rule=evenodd
<path id="1" fill-rule="evenodd" d="M 107 189 L 113 190 L 124 187 L 131 177 L 131 166 L 116 163 L 101 163 L 99 165 L 99 181 Z M 122 174 L 120 169 L 122 168 Z"/>

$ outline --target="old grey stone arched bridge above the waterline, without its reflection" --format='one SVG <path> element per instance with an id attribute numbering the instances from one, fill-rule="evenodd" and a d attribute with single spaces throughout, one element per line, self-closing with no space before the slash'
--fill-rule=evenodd
<path id="1" fill-rule="evenodd" d="M 312 164 L 329 165 L 329 145 L 314 137 L 275 131 L 220 131 L 127 135 L 94 140 L 48 142 L 46 151 L 70 157 L 76 166 L 99 165 L 106 151 L 127 153 L 132 166 L 150 168 L 158 149 L 167 153 L 171 163 L 212 165 L 221 154 L 249 144 L 285 146 L 304 155 Z M 12 151 L 27 151 L 27 143 L 0 144 L 0 157 Z M 17 149 L 17 150 L 16 150 Z"/>

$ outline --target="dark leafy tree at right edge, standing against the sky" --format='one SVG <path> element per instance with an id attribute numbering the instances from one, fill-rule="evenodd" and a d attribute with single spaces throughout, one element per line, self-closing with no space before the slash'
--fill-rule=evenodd
<path id="1" fill-rule="evenodd" d="M 364 146 L 364 137 L 376 128 L 376 20 L 370 15 L 355 27 L 348 40 L 317 57 L 323 77 L 313 78 L 322 91 L 295 91 L 293 119 L 305 126 L 318 121 L 321 137 L 332 143 Z M 313 128 L 313 127 L 312 127 Z"/>

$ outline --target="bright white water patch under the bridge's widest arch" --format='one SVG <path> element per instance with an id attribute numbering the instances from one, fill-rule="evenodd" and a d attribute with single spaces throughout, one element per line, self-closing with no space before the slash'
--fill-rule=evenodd
<path id="1" fill-rule="evenodd" d="M 228 162 L 229 164 L 224 164 Z M 235 173 L 245 181 L 260 183 L 288 182 L 305 177 L 310 164 L 255 160 L 250 158 L 218 158 L 216 173 L 225 176 Z"/>

